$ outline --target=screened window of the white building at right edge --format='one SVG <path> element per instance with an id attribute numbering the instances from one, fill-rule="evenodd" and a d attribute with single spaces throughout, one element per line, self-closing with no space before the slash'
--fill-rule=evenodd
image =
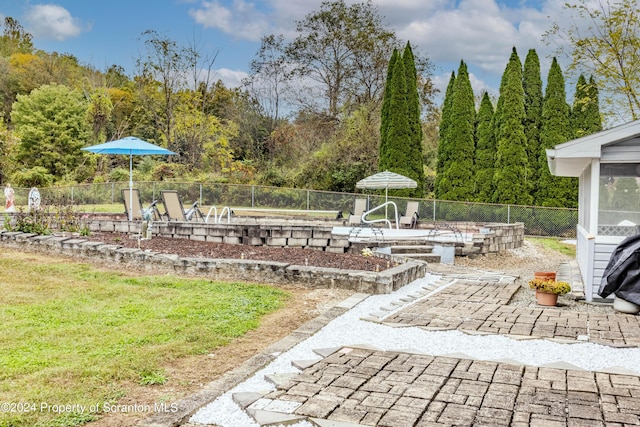
<path id="1" fill-rule="evenodd" d="M 640 163 L 600 165 L 598 234 L 630 236 L 640 230 L 638 184 Z"/>

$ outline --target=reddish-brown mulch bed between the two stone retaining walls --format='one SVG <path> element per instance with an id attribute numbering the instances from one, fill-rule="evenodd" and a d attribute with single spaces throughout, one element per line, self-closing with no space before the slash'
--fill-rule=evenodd
<path id="1" fill-rule="evenodd" d="M 190 258 L 245 258 L 259 261 L 286 262 L 291 265 L 364 271 L 382 271 L 390 266 L 386 259 L 379 257 L 351 253 L 339 254 L 314 249 L 231 245 L 168 237 L 154 237 L 149 240 L 138 241 L 125 233 L 92 233 L 88 238 L 91 241 L 120 245 L 127 248 L 139 247 L 142 250 L 162 254 L 176 254 Z"/>

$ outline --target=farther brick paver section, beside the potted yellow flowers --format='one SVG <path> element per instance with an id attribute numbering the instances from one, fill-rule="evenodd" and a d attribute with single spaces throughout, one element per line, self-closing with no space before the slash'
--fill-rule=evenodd
<path id="1" fill-rule="evenodd" d="M 459 282 L 386 317 L 384 323 L 489 334 L 640 346 L 640 316 L 507 305 L 519 285 Z"/>

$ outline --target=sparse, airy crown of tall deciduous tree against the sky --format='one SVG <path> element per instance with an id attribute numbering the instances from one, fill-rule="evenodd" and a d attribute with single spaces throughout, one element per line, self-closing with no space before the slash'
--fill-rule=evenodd
<path id="1" fill-rule="evenodd" d="M 297 22 L 296 31 L 286 53 L 296 75 L 313 82 L 300 93 L 311 95 L 306 102 L 324 100 L 334 118 L 347 102 L 379 102 L 387 58 L 398 42 L 372 2 L 324 1 Z"/>

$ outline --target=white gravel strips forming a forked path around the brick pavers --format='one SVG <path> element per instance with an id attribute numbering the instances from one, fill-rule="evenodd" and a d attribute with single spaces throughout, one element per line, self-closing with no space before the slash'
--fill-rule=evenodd
<path id="1" fill-rule="evenodd" d="M 525 365 L 543 366 L 567 362 L 590 371 L 624 368 L 640 375 L 640 348 L 617 349 L 592 343 L 559 344 L 547 340 L 515 340 L 507 336 L 472 336 L 459 331 L 425 331 L 420 328 L 393 328 L 363 321 L 362 317 L 380 313 L 381 307 L 398 302 L 403 296 L 415 294 L 424 286 L 435 283 L 440 276 L 425 278 L 389 295 L 366 298 L 344 315 L 334 319 L 318 333 L 277 357 L 269 366 L 247 381 L 200 409 L 193 423 L 215 424 L 223 427 L 257 424 L 232 400 L 237 392 L 269 392 L 274 386 L 265 375 L 295 373 L 294 360 L 319 359 L 314 349 L 366 344 L 382 350 L 411 350 L 431 355 L 463 353 L 479 360 L 510 360 Z M 445 285 L 446 286 L 446 285 Z M 399 307 L 400 309 L 402 307 Z"/>

